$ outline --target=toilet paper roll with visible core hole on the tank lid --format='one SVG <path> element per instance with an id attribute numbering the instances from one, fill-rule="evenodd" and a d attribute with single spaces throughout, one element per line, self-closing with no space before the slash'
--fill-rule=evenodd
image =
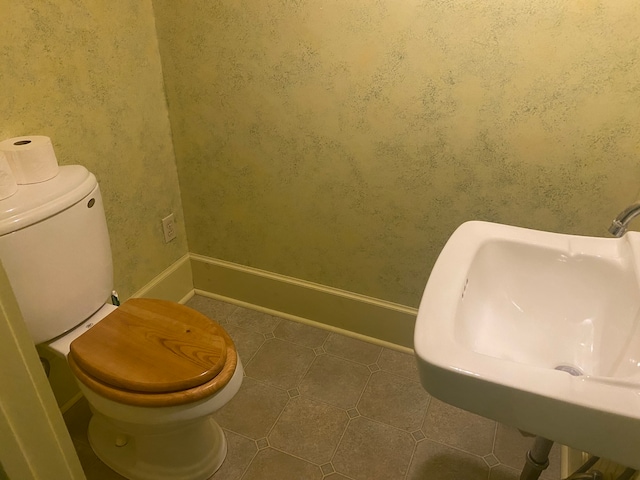
<path id="1" fill-rule="evenodd" d="M 44 182 L 58 174 L 58 159 L 49 137 L 10 138 L 0 142 L 0 151 L 7 156 L 18 185 Z"/>

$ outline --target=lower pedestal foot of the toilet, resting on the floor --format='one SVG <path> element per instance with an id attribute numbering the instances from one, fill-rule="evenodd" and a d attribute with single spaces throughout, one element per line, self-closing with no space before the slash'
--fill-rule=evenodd
<path id="1" fill-rule="evenodd" d="M 205 480 L 227 455 L 224 432 L 210 415 L 176 425 L 143 426 L 95 412 L 89 443 L 103 463 L 129 480 Z"/>

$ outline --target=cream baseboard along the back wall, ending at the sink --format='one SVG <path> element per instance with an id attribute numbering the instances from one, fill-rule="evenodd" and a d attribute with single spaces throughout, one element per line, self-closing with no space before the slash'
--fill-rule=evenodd
<path id="1" fill-rule="evenodd" d="M 415 308 L 203 255 L 189 257 L 198 294 L 394 348 L 413 347 Z"/>

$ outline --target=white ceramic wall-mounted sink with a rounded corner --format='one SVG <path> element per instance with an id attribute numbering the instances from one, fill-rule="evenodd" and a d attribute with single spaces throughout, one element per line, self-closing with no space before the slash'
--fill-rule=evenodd
<path id="1" fill-rule="evenodd" d="M 468 222 L 420 303 L 414 348 L 441 400 L 640 469 L 640 233 Z"/>

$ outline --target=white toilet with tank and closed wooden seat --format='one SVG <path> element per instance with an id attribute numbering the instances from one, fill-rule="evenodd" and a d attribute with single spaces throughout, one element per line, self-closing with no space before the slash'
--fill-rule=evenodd
<path id="1" fill-rule="evenodd" d="M 166 300 L 112 305 L 100 188 L 79 165 L 0 201 L 0 260 L 34 343 L 66 357 L 96 455 L 131 480 L 204 480 L 227 443 L 212 413 L 242 383 L 214 320 Z"/>

